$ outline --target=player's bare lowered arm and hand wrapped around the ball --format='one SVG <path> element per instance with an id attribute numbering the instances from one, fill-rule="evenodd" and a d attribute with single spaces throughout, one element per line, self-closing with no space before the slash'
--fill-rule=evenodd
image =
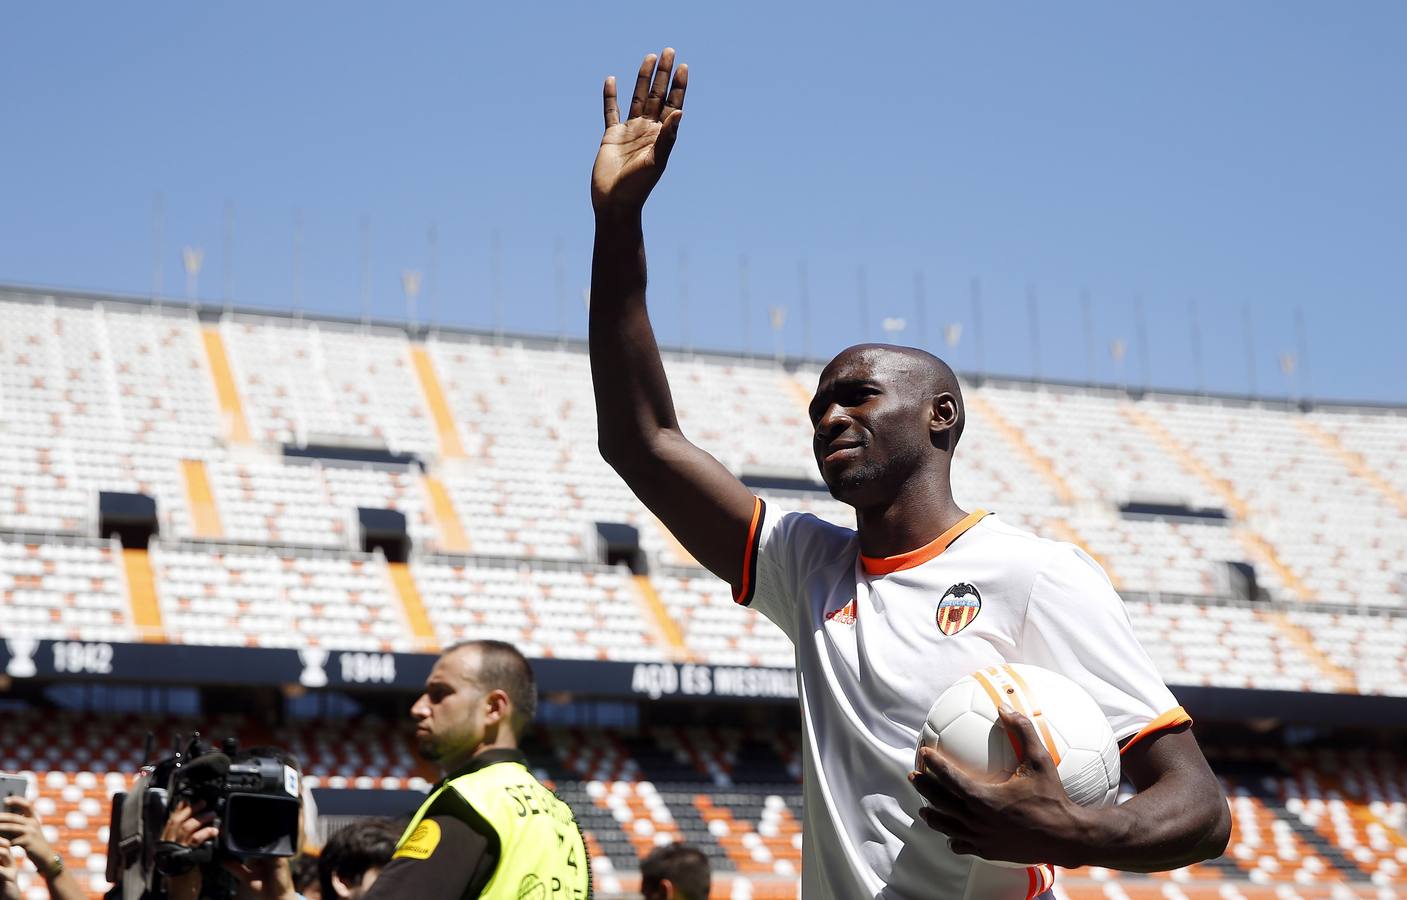
<path id="1" fill-rule="evenodd" d="M 1061 786 L 1030 720 L 1002 713 L 1021 765 L 1005 782 L 967 776 L 933 748 L 909 779 L 929 807 L 919 816 L 948 835 L 958 854 L 1010 862 L 1106 866 L 1162 872 L 1220 856 L 1231 837 L 1231 810 L 1192 731 L 1182 726 L 1128 747 L 1120 766 L 1138 789 L 1107 809 L 1075 804 Z"/>

